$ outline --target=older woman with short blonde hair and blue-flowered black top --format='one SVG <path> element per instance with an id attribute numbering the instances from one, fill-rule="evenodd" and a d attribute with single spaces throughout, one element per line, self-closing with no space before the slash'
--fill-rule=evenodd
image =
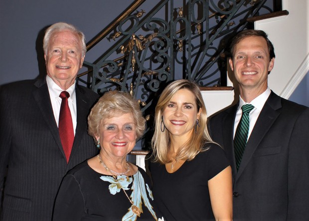
<path id="1" fill-rule="evenodd" d="M 163 221 L 158 219 L 150 178 L 127 161 L 145 130 L 139 103 L 129 93 L 106 92 L 92 108 L 88 125 L 100 152 L 64 177 L 54 221 Z"/>

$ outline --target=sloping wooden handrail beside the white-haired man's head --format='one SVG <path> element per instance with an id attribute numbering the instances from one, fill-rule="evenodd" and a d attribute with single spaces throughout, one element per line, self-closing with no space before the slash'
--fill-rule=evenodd
<path id="1" fill-rule="evenodd" d="M 105 38 L 118 24 L 125 19 L 128 15 L 130 15 L 133 11 L 135 11 L 144 1 L 146 0 L 135 0 L 129 7 L 127 7 L 126 11 L 120 14 L 114 21 L 111 22 L 105 29 L 103 29 L 96 37 L 94 37 L 90 42 L 87 43 L 86 48 L 89 51 L 96 44 L 99 43 L 103 38 Z"/>

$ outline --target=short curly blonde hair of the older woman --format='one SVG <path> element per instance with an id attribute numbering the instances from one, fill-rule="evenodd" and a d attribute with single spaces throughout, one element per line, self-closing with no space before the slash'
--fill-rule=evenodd
<path id="1" fill-rule="evenodd" d="M 88 134 L 96 140 L 99 135 L 100 123 L 103 119 L 131 113 L 136 125 L 137 140 L 145 131 L 145 118 L 140 104 L 129 93 L 123 91 L 108 91 L 93 106 L 88 116 Z"/>

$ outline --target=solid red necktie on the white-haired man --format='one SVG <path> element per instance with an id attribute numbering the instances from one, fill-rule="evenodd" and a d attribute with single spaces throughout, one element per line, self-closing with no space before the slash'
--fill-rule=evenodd
<path id="1" fill-rule="evenodd" d="M 67 91 L 62 91 L 59 97 L 62 99 L 62 101 L 60 106 L 58 129 L 61 144 L 64 150 L 64 154 L 66 156 L 66 161 L 68 162 L 74 142 L 73 122 L 68 103 L 68 98 L 70 97 L 70 94 Z"/>

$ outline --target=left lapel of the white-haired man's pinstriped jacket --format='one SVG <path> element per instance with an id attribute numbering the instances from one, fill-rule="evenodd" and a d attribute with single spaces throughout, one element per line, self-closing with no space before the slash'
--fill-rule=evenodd
<path id="1" fill-rule="evenodd" d="M 37 89 L 32 92 L 34 100 L 36 101 L 41 111 L 41 114 L 43 115 L 44 120 L 48 125 L 53 138 L 55 139 L 57 146 L 64 155 L 57 123 L 55 121 L 54 113 L 51 106 L 47 83 L 45 80 L 37 80 L 34 85 L 37 87 Z"/>

